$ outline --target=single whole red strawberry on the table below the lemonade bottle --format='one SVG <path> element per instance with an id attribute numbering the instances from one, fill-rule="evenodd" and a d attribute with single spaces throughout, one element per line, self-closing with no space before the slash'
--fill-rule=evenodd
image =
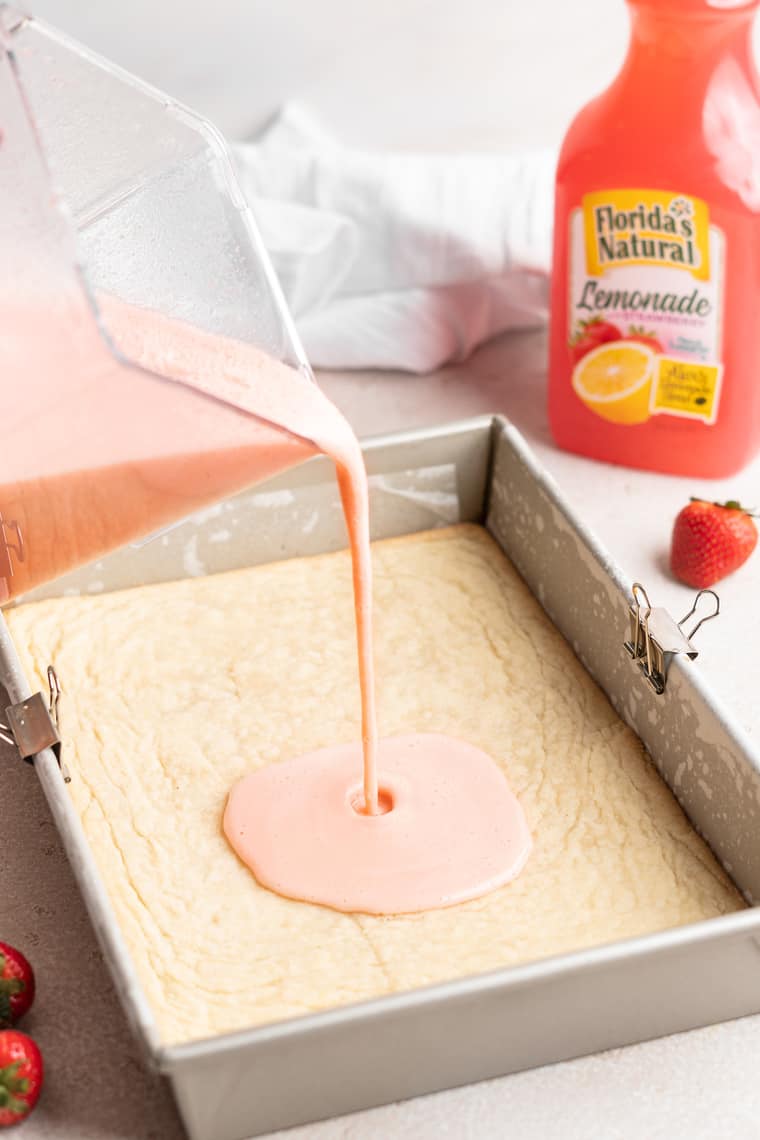
<path id="1" fill-rule="evenodd" d="M 693 498 L 673 523 L 670 569 L 688 586 L 704 589 L 737 570 L 757 544 L 758 529 L 741 503 Z"/>

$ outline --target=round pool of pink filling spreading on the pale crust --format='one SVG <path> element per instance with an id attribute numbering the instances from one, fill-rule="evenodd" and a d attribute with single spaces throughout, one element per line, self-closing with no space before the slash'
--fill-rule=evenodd
<path id="1" fill-rule="evenodd" d="M 376 815 L 365 811 L 359 743 L 235 785 L 224 833 L 262 886 L 338 911 L 402 914 L 475 898 L 520 873 L 530 831 L 485 752 L 430 733 L 383 739 L 377 759 Z"/>

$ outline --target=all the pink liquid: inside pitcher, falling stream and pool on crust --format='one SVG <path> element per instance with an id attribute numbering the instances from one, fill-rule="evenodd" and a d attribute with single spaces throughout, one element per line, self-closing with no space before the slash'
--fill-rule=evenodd
<path id="1" fill-rule="evenodd" d="M 244 779 L 228 799 L 227 838 L 263 886 L 345 911 L 425 910 L 507 882 L 531 838 L 493 762 L 448 736 L 378 744 L 367 477 L 345 418 L 304 372 L 251 344 L 99 303 L 116 348 L 167 381 L 115 364 L 87 314 L 59 315 L 73 337 L 63 324 L 56 337 L 55 312 L 7 320 L 5 359 L 23 384 L 0 427 L 5 600 L 325 453 L 351 545 L 361 744 Z"/>

